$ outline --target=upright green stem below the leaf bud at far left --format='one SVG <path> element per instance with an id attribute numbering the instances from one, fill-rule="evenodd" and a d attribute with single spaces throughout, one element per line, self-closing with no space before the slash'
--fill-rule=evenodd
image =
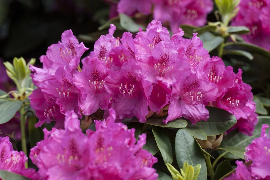
<path id="1" fill-rule="evenodd" d="M 22 150 L 27 156 L 27 144 L 26 144 L 26 133 L 25 133 L 25 106 L 22 105 L 20 109 L 20 126 L 21 126 L 21 139 L 22 139 Z M 25 168 L 28 168 L 28 163 L 25 162 Z"/>

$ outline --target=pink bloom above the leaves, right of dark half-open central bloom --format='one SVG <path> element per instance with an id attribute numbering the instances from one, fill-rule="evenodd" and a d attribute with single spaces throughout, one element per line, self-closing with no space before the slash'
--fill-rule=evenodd
<path id="1" fill-rule="evenodd" d="M 163 122 L 175 120 L 179 117 L 189 119 L 193 124 L 200 120 L 207 120 L 209 112 L 204 102 L 215 100 L 217 85 L 208 81 L 207 76 L 199 68 L 195 74 L 186 79 L 179 79 L 172 85 L 172 94 L 168 117 Z"/>

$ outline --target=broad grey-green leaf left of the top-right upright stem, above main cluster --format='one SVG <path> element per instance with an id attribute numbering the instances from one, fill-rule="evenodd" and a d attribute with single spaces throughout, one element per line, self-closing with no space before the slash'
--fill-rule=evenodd
<path id="1" fill-rule="evenodd" d="M 203 48 L 207 49 L 209 52 L 213 51 L 224 41 L 222 37 L 215 36 L 208 31 L 200 35 L 199 38 L 203 42 Z"/>

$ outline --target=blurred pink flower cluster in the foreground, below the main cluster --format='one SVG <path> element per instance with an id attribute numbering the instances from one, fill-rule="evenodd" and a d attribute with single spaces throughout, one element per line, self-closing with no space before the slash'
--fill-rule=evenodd
<path id="1" fill-rule="evenodd" d="M 84 135 L 79 125 L 76 113 L 67 111 L 65 130 L 43 130 L 44 140 L 30 152 L 42 179 L 157 179 L 157 159 L 142 149 L 146 134 L 136 143 L 135 129 L 115 123 L 114 109 L 106 120 L 95 120 L 96 131 Z"/>

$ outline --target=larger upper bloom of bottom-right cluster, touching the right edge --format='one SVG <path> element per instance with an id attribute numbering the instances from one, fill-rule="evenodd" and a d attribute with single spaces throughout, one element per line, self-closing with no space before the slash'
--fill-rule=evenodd
<path id="1" fill-rule="evenodd" d="M 270 139 L 262 126 L 261 137 L 254 139 L 246 148 L 246 159 L 252 160 L 251 175 L 256 179 L 270 179 Z"/>

